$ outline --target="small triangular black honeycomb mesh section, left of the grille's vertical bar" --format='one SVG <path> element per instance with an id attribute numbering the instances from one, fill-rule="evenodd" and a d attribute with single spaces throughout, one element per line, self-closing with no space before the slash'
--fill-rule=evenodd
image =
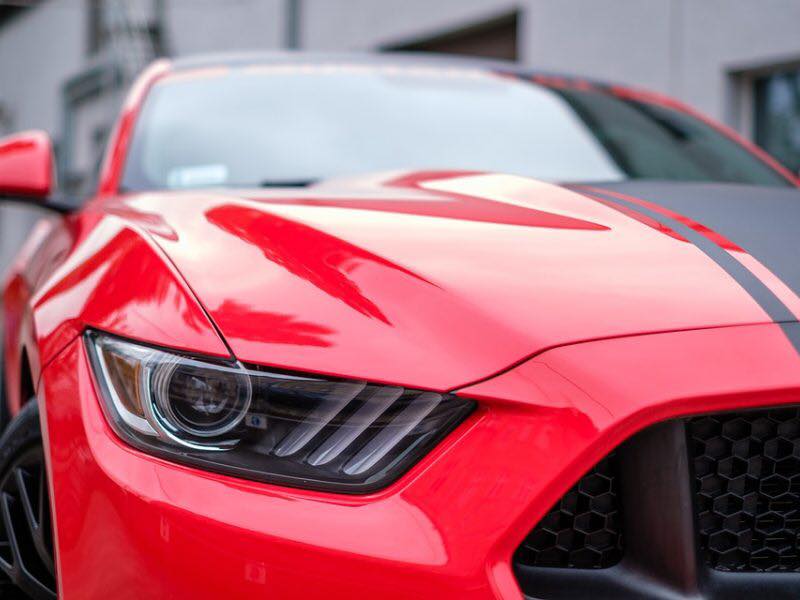
<path id="1" fill-rule="evenodd" d="M 611 454 L 569 490 L 517 550 L 531 567 L 604 569 L 622 557 L 619 481 Z"/>

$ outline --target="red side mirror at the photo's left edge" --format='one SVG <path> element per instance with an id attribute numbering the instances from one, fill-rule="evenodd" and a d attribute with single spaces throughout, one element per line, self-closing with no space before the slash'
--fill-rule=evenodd
<path id="1" fill-rule="evenodd" d="M 44 203 L 53 191 L 53 143 L 44 131 L 0 139 L 0 196 Z"/>

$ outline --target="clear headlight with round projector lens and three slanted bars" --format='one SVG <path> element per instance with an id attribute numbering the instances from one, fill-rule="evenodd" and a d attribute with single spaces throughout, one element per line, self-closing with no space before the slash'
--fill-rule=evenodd
<path id="1" fill-rule="evenodd" d="M 88 332 L 103 411 L 131 445 L 248 479 L 364 493 L 389 484 L 474 403 L 182 355 Z"/>

